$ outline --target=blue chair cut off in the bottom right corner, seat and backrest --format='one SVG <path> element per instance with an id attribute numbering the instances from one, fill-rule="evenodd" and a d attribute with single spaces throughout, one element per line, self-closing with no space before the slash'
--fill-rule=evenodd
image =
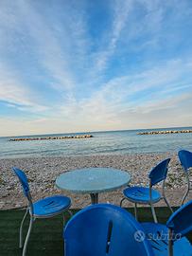
<path id="1" fill-rule="evenodd" d="M 156 256 L 192 256 L 192 245 L 185 237 L 192 231 L 192 200 L 176 210 L 166 225 L 143 223 L 142 226 Z"/>

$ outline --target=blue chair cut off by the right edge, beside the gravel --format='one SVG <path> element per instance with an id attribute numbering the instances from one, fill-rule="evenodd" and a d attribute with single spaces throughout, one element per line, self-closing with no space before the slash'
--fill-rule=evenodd
<path id="1" fill-rule="evenodd" d="M 183 167 L 183 171 L 186 177 L 186 184 L 187 184 L 187 190 L 184 193 L 183 199 L 182 199 L 182 205 L 183 205 L 188 192 L 192 191 L 192 186 L 191 186 L 192 180 L 189 179 L 189 175 L 188 175 L 189 168 L 192 168 L 192 152 L 187 150 L 181 150 L 179 151 L 178 156 Z"/>

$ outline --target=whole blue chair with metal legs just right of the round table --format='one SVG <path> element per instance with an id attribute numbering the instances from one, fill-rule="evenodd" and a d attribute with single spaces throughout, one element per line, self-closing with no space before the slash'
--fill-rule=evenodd
<path id="1" fill-rule="evenodd" d="M 160 162 L 157 166 L 155 166 L 149 173 L 149 188 L 146 187 L 130 187 L 123 191 L 124 197 L 120 202 L 120 207 L 122 207 L 122 203 L 124 200 L 129 200 L 134 203 L 134 213 L 135 218 L 137 219 L 137 204 L 148 204 L 151 207 L 152 216 L 154 222 L 157 223 L 157 216 L 153 207 L 153 204 L 159 202 L 161 199 L 164 199 L 167 207 L 173 212 L 171 207 L 169 206 L 166 195 L 165 195 L 165 182 L 166 182 L 166 174 L 168 170 L 168 163 L 170 158 Z M 153 190 L 152 187 L 157 183 L 163 181 L 162 186 L 162 194 L 156 190 Z"/>

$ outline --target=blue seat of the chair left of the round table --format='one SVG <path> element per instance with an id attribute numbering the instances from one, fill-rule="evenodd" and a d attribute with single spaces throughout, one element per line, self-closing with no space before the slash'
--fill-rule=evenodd
<path id="1" fill-rule="evenodd" d="M 54 195 L 45 197 L 33 203 L 33 211 L 35 217 L 50 217 L 67 210 L 71 205 L 71 200 L 67 196 Z M 30 212 L 31 213 L 31 212 Z"/>

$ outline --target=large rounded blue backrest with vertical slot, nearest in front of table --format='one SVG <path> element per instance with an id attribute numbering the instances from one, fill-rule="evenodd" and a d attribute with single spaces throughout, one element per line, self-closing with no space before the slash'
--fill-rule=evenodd
<path id="1" fill-rule="evenodd" d="M 92 205 L 67 223 L 64 255 L 154 255 L 143 234 L 143 228 L 127 210 L 110 204 Z"/>

